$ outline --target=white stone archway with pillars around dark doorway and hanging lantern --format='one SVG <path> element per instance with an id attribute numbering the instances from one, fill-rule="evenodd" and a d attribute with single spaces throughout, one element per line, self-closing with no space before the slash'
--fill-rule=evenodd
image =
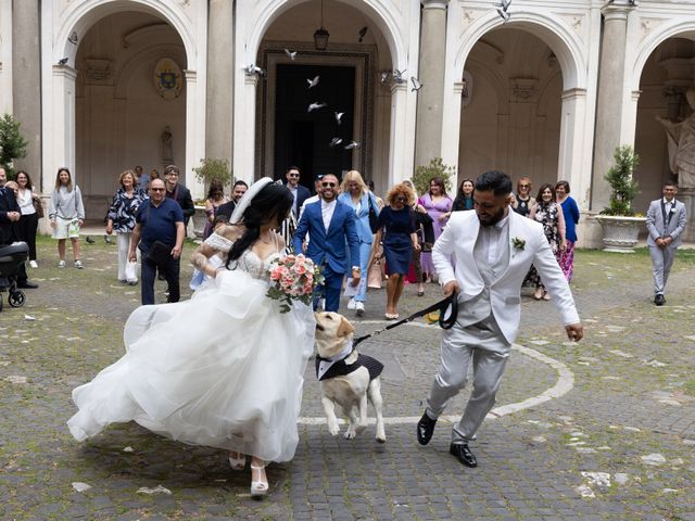
<path id="1" fill-rule="evenodd" d="M 273 67 L 285 60 L 282 53 L 276 52 L 281 51 L 285 45 L 293 45 L 300 53 L 302 50 L 312 51 L 305 58 L 309 59 L 311 54 L 314 63 L 342 62 L 355 66 L 358 72 L 362 71 L 358 73 L 361 81 L 371 91 L 365 94 L 368 99 L 364 100 L 369 106 L 362 109 L 361 117 L 370 119 L 366 122 L 368 127 L 362 136 L 376 136 L 375 139 L 380 140 L 379 150 L 386 152 L 368 157 L 369 150 L 363 148 L 354 152 L 353 163 L 356 168 L 364 165 L 374 171 L 377 190 L 383 190 L 393 179 L 410 175 L 413 166 L 408 158 L 413 156 L 415 145 L 416 96 L 405 85 L 381 85 L 380 72 L 394 68 L 417 71 L 417 53 L 406 52 L 410 41 L 402 27 L 413 27 L 419 20 L 419 12 L 393 13 L 380 2 L 326 0 L 324 25 L 331 36 L 327 51 L 321 53 L 314 51 L 312 39 L 319 24 L 318 8 L 318 0 L 267 0 L 256 2 L 255 7 L 238 5 L 235 48 L 236 62 L 240 66 L 235 81 L 235 127 L 261 128 L 256 125 L 257 119 L 267 117 L 267 112 L 262 107 L 268 100 L 264 93 L 265 85 L 273 81 Z M 287 24 L 292 28 L 291 34 L 282 30 Z M 365 26 L 368 28 L 366 37 L 358 41 L 358 30 Z M 274 38 L 278 41 L 271 41 Z M 359 56 L 368 58 L 364 61 Z M 354 60 L 362 60 L 363 65 L 356 62 L 351 64 Z M 250 63 L 268 66 L 270 76 L 263 89 L 255 74 L 240 71 Z M 264 153 L 262 157 L 258 145 L 264 138 L 267 138 L 267 134 L 260 130 L 255 134 L 235 132 L 233 163 L 238 177 L 253 179 L 268 174 L 262 167 L 268 164 L 267 154 Z M 376 148 L 376 141 L 370 148 Z"/>

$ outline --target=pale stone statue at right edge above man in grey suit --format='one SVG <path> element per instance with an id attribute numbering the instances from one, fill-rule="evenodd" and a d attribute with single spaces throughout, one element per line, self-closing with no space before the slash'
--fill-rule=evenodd
<path id="1" fill-rule="evenodd" d="M 695 188 L 695 89 L 688 89 L 685 98 L 693 111 L 690 116 L 678 123 L 666 117 L 657 119 L 666 127 L 669 167 L 678 178 L 678 186 Z"/>

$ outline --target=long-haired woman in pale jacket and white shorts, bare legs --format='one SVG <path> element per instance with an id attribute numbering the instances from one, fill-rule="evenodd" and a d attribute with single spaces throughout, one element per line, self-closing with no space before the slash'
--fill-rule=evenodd
<path id="1" fill-rule="evenodd" d="M 79 229 L 85 224 L 85 205 L 83 194 L 77 185 L 73 185 L 73 176 L 62 166 L 55 174 L 55 189 L 51 193 L 48 217 L 53 228 L 53 239 L 58 239 L 59 268 L 65 267 L 65 240 L 73 243 L 75 267 L 83 269 L 79 259 Z"/>

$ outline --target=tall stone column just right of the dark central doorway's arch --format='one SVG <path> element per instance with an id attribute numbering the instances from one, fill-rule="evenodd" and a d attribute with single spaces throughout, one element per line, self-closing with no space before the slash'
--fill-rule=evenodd
<path id="1" fill-rule="evenodd" d="M 448 0 L 422 0 L 415 167 L 442 155 L 446 5 Z M 408 75 L 408 88 L 413 87 Z"/>

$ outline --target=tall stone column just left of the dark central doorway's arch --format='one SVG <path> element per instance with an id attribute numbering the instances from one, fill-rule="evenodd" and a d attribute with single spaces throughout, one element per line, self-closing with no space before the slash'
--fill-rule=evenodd
<path id="1" fill-rule="evenodd" d="M 207 118 L 205 155 L 231 166 L 233 126 L 232 0 L 210 0 L 207 20 Z"/>

